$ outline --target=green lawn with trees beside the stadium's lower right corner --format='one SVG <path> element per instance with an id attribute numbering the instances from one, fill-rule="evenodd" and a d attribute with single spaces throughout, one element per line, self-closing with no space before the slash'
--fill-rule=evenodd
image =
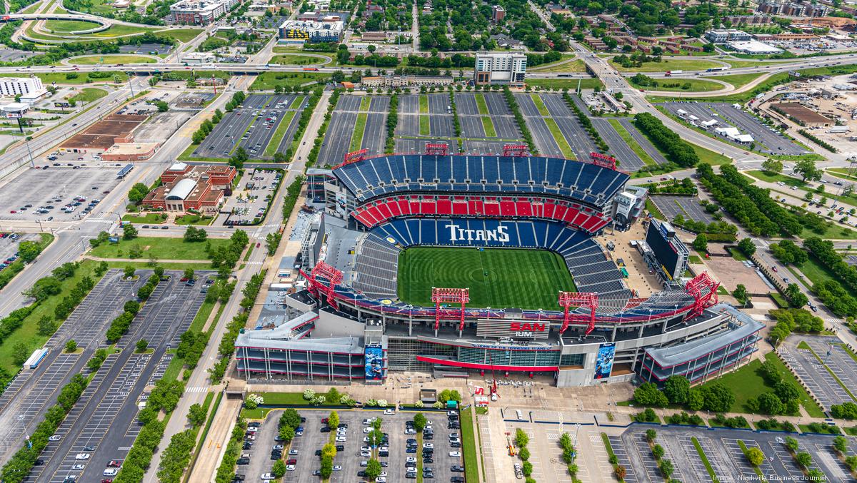
<path id="1" fill-rule="evenodd" d="M 807 414 L 814 418 L 824 417 L 824 411 L 812 400 L 812 397 L 803 389 L 803 386 L 800 385 L 794 374 L 790 373 L 785 364 L 776 357 L 776 354 L 769 352 L 764 355 L 764 359 L 765 361 L 772 361 L 779 369 L 782 380 L 792 383 L 800 391 L 800 404 L 806 409 Z M 729 409 L 730 413 L 749 413 L 750 411 L 746 408 L 748 399 L 758 397 L 764 392 L 773 391 L 773 388 L 766 385 L 764 378 L 759 373 L 761 367 L 762 362 L 757 359 L 749 364 L 745 364 L 734 372 L 724 374 L 721 378 L 710 381 L 719 381 L 734 392 L 735 402 L 732 404 L 732 408 Z M 710 382 L 705 384 L 710 384 Z"/>

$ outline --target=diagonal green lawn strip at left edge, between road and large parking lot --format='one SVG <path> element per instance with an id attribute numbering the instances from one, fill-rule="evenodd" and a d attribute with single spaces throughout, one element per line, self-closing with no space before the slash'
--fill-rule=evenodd
<path id="1" fill-rule="evenodd" d="M 3 367 L 8 370 L 9 373 L 13 374 L 17 373 L 18 370 L 21 369 L 21 366 L 15 364 L 12 357 L 12 348 L 15 344 L 24 343 L 27 346 L 27 353 L 31 353 L 33 350 L 38 349 L 45 344 L 49 336 L 39 335 L 39 319 L 45 315 L 51 316 L 52 319 L 54 317 L 54 309 L 57 307 L 57 304 L 63 300 L 65 295 L 69 294 L 71 289 L 81 281 L 81 278 L 87 276 L 92 277 L 97 283 L 99 277 L 95 276 L 96 265 L 98 264 L 92 260 L 81 261 L 81 265 L 78 267 L 77 271 L 75 271 L 75 276 L 63 280 L 60 284 L 62 291 L 58 295 L 54 295 L 39 304 L 39 307 L 36 307 L 35 310 L 33 310 L 33 312 L 24 319 L 21 327 L 18 330 L 13 331 L 9 337 L 0 344 L 0 367 Z"/>

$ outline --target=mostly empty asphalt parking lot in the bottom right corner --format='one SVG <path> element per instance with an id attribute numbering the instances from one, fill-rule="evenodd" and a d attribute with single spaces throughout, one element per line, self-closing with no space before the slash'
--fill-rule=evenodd
<path id="1" fill-rule="evenodd" d="M 662 459 L 670 460 L 674 464 L 672 478 L 685 483 L 709 483 L 711 480 L 694 439 L 720 481 L 758 480 L 755 470 L 746 461 L 740 443 L 748 449 L 755 447 L 764 453 L 764 462 L 758 469 L 768 481 L 804 479 L 803 471 L 794 462 L 785 445 L 785 437 L 789 434 L 734 429 L 710 431 L 704 427 L 692 426 L 634 425 L 621 437 L 609 438 L 619 464 L 628 469 L 626 481 L 663 480 L 650 445 L 645 439 L 645 430 L 648 428 L 656 430 L 654 444 L 662 446 Z M 810 468 L 823 472 L 828 481 L 854 481 L 850 474 L 843 472 L 842 463 L 838 462 L 832 449 L 832 438 L 818 435 L 790 436 L 798 440 L 798 452 L 806 451 L 812 456 Z M 595 440 L 593 444 L 596 444 Z"/>

